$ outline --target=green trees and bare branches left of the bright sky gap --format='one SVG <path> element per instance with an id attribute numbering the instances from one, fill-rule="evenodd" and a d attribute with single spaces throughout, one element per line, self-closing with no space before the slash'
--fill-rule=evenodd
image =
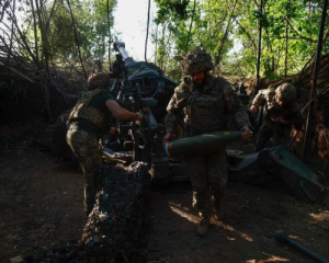
<path id="1" fill-rule="evenodd" d="M 92 67 L 94 60 L 105 60 L 115 36 L 113 32 L 111 37 L 115 5 L 115 0 L 1 1 L 0 54 L 24 57 L 38 69 L 73 66 L 79 56 L 82 65 Z"/>

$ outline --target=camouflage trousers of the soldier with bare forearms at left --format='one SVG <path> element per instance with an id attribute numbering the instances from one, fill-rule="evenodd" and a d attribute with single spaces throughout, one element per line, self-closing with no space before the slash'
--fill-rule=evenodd
<path id="1" fill-rule="evenodd" d="M 67 132 L 66 140 L 78 157 L 84 176 L 84 210 L 89 215 L 97 194 L 97 172 L 102 167 L 102 155 L 97 135 L 83 130 Z"/>

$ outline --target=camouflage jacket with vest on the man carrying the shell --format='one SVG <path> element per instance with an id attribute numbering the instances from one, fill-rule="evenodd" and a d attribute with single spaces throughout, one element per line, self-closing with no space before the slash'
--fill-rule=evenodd
<path id="1" fill-rule="evenodd" d="M 249 116 L 240 99 L 224 78 L 211 76 L 202 90 L 186 78 L 174 89 L 164 119 L 166 132 L 174 132 L 183 118 L 189 136 L 225 130 L 229 116 L 240 128 L 249 124 Z"/>

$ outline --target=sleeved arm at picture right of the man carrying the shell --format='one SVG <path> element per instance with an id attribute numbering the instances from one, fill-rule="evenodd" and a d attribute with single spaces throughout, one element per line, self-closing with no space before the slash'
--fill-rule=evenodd
<path id="1" fill-rule="evenodd" d="M 248 113 L 242 102 L 227 81 L 224 82 L 224 102 L 228 113 L 234 116 L 239 129 L 243 126 L 250 127 Z"/>

